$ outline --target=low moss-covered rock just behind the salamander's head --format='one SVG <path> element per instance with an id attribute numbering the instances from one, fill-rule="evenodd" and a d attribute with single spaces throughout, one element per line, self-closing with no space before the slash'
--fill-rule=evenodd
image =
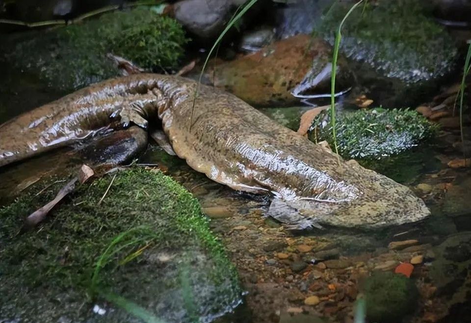
<path id="1" fill-rule="evenodd" d="M 345 158 L 378 159 L 417 146 L 435 133 L 436 126 L 414 110 L 383 109 L 344 112 L 337 116 L 337 146 Z M 334 148 L 329 113 L 321 112 L 309 138 L 326 140 Z"/>

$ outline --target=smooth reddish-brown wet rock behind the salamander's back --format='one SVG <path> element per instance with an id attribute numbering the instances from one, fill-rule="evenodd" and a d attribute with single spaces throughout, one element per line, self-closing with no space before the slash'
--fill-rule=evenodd
<path id="1" fill-rule="evenodd" d="M 329 44 L 300 34 L 230 62 L 213 61 L 206 78 L 251 105 L 292 104 L 299 99 L 291 91 L 300 83 L 313 81 L 316 75 L 322 77 L 310 86 L 309 94 L 330 93 L 331 60 Z M 336 90 L 341 91 L 352 77 L 345 59 L 339 57 L 337 65 Z"/>

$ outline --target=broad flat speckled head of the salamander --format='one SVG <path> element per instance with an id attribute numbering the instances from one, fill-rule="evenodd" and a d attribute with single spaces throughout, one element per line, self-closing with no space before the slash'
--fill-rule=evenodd
<path id="1" fill-rule="evenodd" d="M 353 198 L 274 200 L 268 214 L 297 229 L 313 224 L 380 228 L 417 222 L 430 215 L 423 200 L 408 187 L 384 175 L 362 167 L 361 173 L 352 177 L 351 182 L 354 181 L 356 185 L 352 184 L 352 187 L 357 188 L 358 192 L 351 195 Z"/>

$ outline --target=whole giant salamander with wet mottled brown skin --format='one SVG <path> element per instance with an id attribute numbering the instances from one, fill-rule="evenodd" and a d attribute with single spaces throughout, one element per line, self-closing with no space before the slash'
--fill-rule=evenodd
<path id="1" fill-rule="evenodd" d="M 273 194 L 288 208 L 273 214 L 286 223 L 382 227 L 429 214 L 407 187 L 340 161 L 222 90 L 200 86 L 190 123 L 195 88 L 183 77 L 139 74 L 79 90 L 0 125 L 0 166 L 91 136 L 110 126 L 111 114 L 134 110 L 158 118 L 194 170 L 236 190 Z"/>

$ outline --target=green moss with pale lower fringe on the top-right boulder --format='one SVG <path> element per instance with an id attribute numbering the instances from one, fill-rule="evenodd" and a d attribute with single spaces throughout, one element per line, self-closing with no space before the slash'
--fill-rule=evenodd
<path id="1" fill-rule="evenodd" d="M 350 4 L 331 8 L 318 32 L 334 43 L 335 31 Z M 416 0 L 379 0 L 359 7 L 342 28 L 341 50 L 382 74 L 407 82 L 443 76 L 451 71 L 457 49 L 445 28 Z"/>

